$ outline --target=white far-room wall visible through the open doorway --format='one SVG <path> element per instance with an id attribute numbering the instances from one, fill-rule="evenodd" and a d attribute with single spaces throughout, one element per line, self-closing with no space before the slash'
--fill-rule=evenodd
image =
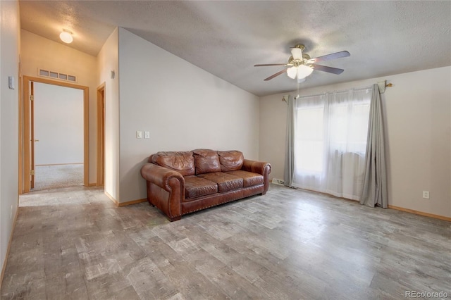
<path id="1" fill-rule="evenodd" d="M 35 165 L 83 163 L 83 91 L 34 85 Z"/>

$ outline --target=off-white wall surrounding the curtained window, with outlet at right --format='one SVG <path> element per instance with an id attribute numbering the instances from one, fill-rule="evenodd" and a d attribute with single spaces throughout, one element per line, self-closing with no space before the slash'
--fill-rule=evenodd
<path id="1" fill-rule="evenodd" d="M 302 89 L 301 94 L 381 80 L 393 83 L 382 95 L 389 205 L 451 217 L 451 67 Z M 288 108 L 282 97 L 261 97 L 260 159 L 271 163 L 271 177 L 283 179 Z M 422 198 L 424 190 L 431 199 Z"/>

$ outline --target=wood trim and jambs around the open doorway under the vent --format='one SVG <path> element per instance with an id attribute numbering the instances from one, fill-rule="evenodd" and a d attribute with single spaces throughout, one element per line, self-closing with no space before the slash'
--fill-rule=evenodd
<path id="1" fill-rule="evenodd" d="M 83 99 L 83 149 L 82 149 L 82 165 L 83 165 L 83 185 L 89 185 L 89 123 L 88 123 L 88 99 L 89 88 L 73 85 L 68 82 L 58 82 L 54 80 L 47 80 L 39 77 L 23 77 L 23 101 L 20 107 L 20 141 L 22 147 L 20 149 L 20 163 L 22 170 L 19 170 L 19 192 L 20 194 L 30 192 L 35 185 L 35 144 L 39 141 L 35 140 L 35 83 L 43 83 L 47 85 L 56 85 L 59 87 L 70 87 L 73 89 L 82 90 Z"/>

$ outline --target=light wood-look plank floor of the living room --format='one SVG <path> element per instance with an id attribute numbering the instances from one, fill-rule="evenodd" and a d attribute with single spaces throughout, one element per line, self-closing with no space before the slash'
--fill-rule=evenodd
<path id="1" fill-rule="evenodd" d="M 32 192 L 1 299 L 451 298 L 450 225 L 278 185 L 173 223 L 97 188 Z"/>

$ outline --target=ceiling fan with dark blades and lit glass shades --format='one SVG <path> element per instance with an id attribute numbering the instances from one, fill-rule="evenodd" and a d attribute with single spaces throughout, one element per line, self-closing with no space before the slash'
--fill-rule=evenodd
<path id="1" fill-rule="evenodd" d="M 348 51 L 340 51 L 333 54 L 328 54 L 324 56 L 319 56 L 316 58 L 310 58 L 309 54 L 303 54 L 302 51 L 305 46 L 298 44 L 291 48 L 291 56 L 288 59 L 288 63 L 268 63 L 263 65 L 254 65 L 254 67 L 266 67 L 270 65 L 285 65 L 285 68 L 276 74 L 273 74 L 265 79 L 265 81 L 271 80 L 274 77 L 287 73 L 288 77 L 292 79 L 297 79 L 297 82 L 303 82 L 305 77 L 309 76 L 313 70 L 319 70 L 327 73 L 341 74 L 344 70 L 339 68 L 327 67 L 326 65 L 317 65 L 319 61 L 330 61 L 335 58 L 342 58 L 350 56 Z"/>

